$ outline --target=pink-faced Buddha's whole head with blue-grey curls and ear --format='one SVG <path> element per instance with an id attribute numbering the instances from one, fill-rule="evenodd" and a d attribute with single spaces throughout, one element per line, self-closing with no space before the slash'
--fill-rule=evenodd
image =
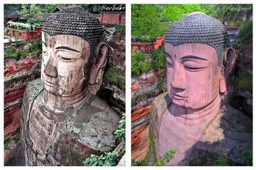
<path id="1" fill-rule="evenodd" d="M 173 104 L 205 108 L 226 91 L 236 54 L 226 41 L 226 28 L 201 12 L 170 24 L 164 42 L 167 90 Z"/>

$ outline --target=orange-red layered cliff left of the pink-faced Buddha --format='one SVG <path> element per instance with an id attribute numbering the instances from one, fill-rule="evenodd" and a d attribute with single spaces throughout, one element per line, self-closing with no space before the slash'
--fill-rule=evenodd
<path id="1" fill-rule="evenodd" d="M 149 146 L 149 111 L 151 102 L 161 91 L 154 70 L 132 76 L 132 159 L 140 161 Z M 135 98 L 135 99 L 134 99 Z"/>

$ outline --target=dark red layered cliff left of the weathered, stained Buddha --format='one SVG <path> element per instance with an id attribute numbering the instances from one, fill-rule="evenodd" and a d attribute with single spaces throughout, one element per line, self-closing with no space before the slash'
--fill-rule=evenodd
<path id="1" fill-rule="evenodd" d="M 27 83 L 40 76 L 41 56 L 28 56 L 22 60 L 5 60 L 5 138 L 20 127 L 22 96 Z"/>

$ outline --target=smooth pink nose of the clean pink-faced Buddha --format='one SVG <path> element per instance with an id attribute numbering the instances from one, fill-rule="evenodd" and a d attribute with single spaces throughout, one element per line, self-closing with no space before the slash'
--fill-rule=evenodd
<path id="1" fill-rule="evenodd" d="M 171 82 L 172 88 L 185 90 L 186 83 L 186 74 L 184 68 L 174 68 L 174 73 Z"/>

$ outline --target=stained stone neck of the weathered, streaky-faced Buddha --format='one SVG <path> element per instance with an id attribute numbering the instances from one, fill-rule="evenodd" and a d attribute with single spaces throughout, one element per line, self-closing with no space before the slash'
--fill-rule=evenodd
<path id="1" fill-rule="evenodd" d="M 84 104 L 90 96 L 88 88 L 74 96 L 58 96 L 44 91 L 43 102 L 45 105 L 54 112 L 67 112 L 72 111 Z"/>

